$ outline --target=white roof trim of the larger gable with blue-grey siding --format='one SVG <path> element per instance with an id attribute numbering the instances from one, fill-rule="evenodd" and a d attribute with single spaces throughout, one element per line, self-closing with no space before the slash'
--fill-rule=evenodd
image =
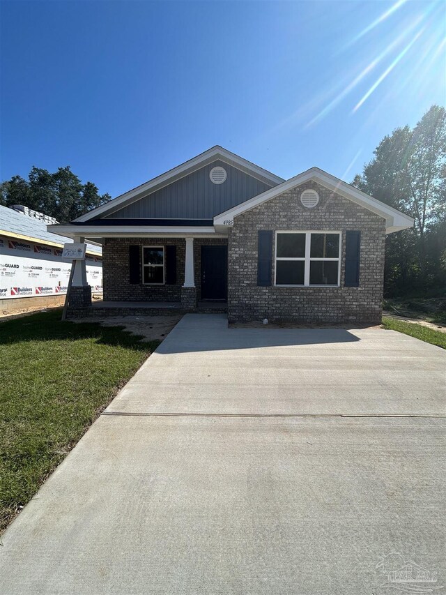
<path id="1" fill-rule="evenodd" d="M 160 188 L 164 186 L 168 186 L 169 184 L 173 183 L 174 181 L 199 170 L 201 167 L 208 165 L 208 163 L 212 163 L 215 160 L 222 160 L 233 167 L 236 167 L 238 170 L 241 170 L 250 176 L 254 176 L 255 178 L 268 183 L 269 186 L 276 186 L 284 181 L 283 178 L 268 172 L 267 170 L 263 170 L 263 167 L 259 167 L 259 165 L 255 165 L 246 159 L 236 155 L 235 153 L 231 153 L 227 149 L 223 149 L 222 146 L 216 145 L 213 146 L 208 151 L 204 151 L 204 153 L 200 153 L 197 157 L 194 157 L 177 167 L 174 167 L 173 170 L 169 170 L 168 172 L 141 184 L 141 186 L 137 186 L 137 188 L 133 188 L 129 190 L 125 194 L 114 198 L 113 200 L 103 204 L 102 206 L 98 206 L 96 209 L 89 211 L 85 215 L 78 217 L 75 219 L 75 222 L 84 223 L 85 221 L 89 221 L 90 219 L 95 218 L 102 218 L 104 216 L 109 215 L 113 211 L 117 209 L 122 209 L 123 206 L 127 206 L 132 202 L 135 202 L 148 194 L 154 193 Z"/>

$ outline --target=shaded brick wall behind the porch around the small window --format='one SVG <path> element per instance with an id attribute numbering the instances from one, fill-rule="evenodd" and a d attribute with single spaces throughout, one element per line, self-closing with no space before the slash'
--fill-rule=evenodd
<path id="1" fill-rule="evenodd" d="M 201 246 L 226 244 L 226 239 L 194 239 L 194 280 L 201 287 Z M 176 246 L 176 285 L 130 285 L 129 246 Z M 102 248 L 105 301 L 180 301 L 184 283 L 186 243 L 183 238 L 107 238 Z"/>

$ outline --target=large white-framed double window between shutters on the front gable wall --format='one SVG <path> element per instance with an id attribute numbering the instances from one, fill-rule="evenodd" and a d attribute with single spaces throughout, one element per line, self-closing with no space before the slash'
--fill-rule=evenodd
<path id="1" fill-rule="evenodd" d="M 277 232 L 275 284 L 339 285 L 341 232 Z"/>

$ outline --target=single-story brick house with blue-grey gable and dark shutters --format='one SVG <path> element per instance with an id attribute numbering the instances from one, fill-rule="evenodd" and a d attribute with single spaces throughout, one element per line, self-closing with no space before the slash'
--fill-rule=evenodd
<path id="1" fill-rule="evenodd" d="M 104 300 L 119 308 L 215 302 L 230 322 L 378 324 L 385 235 L 412 225 L 316 167 L 284 180 L 215 146 L 49 231 L 102 243 Z M 89 290 L 75 262 L 78 314 Z"/>

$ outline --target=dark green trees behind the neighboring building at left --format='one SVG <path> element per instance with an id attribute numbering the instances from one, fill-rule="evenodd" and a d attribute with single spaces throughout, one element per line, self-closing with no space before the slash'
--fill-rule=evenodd
<path id="1" fill-rule="evenodd" d="M 83 184 L 68 165 L 54 173 L 32 167 L 27 180 L 13 176 L 0 184 L 3 206 L 24 204 L 61 223 L 72 221 L 110 198 L 109 194 L 100 195 L 93 182 Z"/>

